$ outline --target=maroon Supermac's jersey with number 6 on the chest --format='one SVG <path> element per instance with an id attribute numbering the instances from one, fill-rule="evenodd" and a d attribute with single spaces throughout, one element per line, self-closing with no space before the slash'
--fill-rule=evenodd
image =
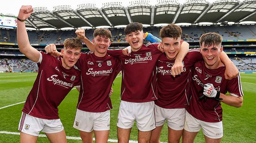
<path id="1" fill-rule="evenodd" d="M 112 109 L 109 92 L 121 70 L 120 60 L 108 54 L 97 57 L 94 52 L 81 53 L 76 66 L 81 69 L 77 108 L 87 112 L 104 112 Z"/>

